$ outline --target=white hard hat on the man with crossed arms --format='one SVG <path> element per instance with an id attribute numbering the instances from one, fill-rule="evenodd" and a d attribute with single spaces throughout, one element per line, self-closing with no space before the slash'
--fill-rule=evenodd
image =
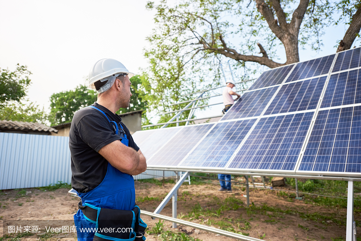
<path id="1" fill-rule="evenodd" d="M 128 74 L 129 78 L 134 76 L 134 73 L 129 72 L 127 68 L 119 61 L 112 58 L 103 58 L 95 63 L 95 65 L 89 71 L 89 88 L 95 89 L 94 83 L 98 80 L 108 80 L 109 76 L 115 76 L 116 74 L 125 73 Z M 107 78 L 107 79 L 105 79 Z M 112 78 L 113 79 L 113 78 Z M 115 80 L 115 79 L 114 79 Z M 113 80 L 113 83 L 114 83 Z M 112 83 L 112 84 L 113 84 Z M 111 86 L 110 86 L 111 87 Z M 108 87 L 108 88 L 110 88 Z M 107 89 L 108 89 L 107 88 Z M 106 90 L 106 89 L 105 89 Z M 105 91 L 104 90 L 104 91 Z M 101 91 L 101 92 L 104 92 Z"/>

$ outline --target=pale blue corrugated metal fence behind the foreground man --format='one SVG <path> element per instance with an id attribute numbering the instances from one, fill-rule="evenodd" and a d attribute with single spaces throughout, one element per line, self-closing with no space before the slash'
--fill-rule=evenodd
<path id="1" fill-rule="evenodd" d="M 157 178 L 146 171 L 134 180 Z M 155 176 L 151 176 L 155 175 Z M 174 176 L 165 171 L 165 176 Z M 0 132 L 0 190 L 45 187 L 71 182 L 69 137 Z"/>

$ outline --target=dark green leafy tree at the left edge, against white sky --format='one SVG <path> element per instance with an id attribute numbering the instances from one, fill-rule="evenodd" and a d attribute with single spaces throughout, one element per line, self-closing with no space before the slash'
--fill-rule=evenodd
<path id="1" fill-rule="evenodd" d="M 23 100 L 30 85 L 30 74 L 26 65 L 17 64 L 15 71 L 0 69 L 0 108 L 12 101 Z"/>

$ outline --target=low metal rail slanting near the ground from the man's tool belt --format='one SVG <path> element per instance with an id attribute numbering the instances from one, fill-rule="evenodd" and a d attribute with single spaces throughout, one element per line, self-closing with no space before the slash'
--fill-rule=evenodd
<path id="1" fill-rule="evenodd" d="M 140 210 L 140 214 L 151 216 L 152 218 L 158 218 L 158 219 L 166 220 L 166 221 L 169 221 L 169 222 L 172 222 L 172 223 L 182 224 L 184 226 L 188 226 L 188 227 L 191 227 L 191 228 L 196 228 L 196 229 L 204 230 L 204 231 L 207 231 L 207 232 L 216 233 L 216 234 L 226 236 L 226 237 L 229 237 L 229 238 L 234 238 L 234 239 L 237 239 L 237 240 L 242 240 L 242 241 L 262 241 L 262 240 L 260 240 L 258 238 L 252 238 L 252 237 L 240 235 L 238 233 L 232 233 L 232 232 L 224 231 L 222 229 L 212 228 L 212 227 L 208 227 L 206 225 L 192 223 L 192 222 L 185 221 L 185 220 L 182 220 L 182 219 L 171 218 L 171 217 L 168 217 L 168 216 L 164 216 L 164 215 L 161 215 L 161 214 L 155 214 L 153 212 L 148 212 L 148 211 L 144 211 L 144 210 Z"/>

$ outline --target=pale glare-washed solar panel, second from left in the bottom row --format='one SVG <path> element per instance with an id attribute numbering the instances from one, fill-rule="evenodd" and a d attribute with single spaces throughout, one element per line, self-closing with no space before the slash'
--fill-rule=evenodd
<path id="1" fill-rule="evenodd" d="M 185 126 L 147 161 L 148 166 L 177 166 L 214 124 Z"/>

